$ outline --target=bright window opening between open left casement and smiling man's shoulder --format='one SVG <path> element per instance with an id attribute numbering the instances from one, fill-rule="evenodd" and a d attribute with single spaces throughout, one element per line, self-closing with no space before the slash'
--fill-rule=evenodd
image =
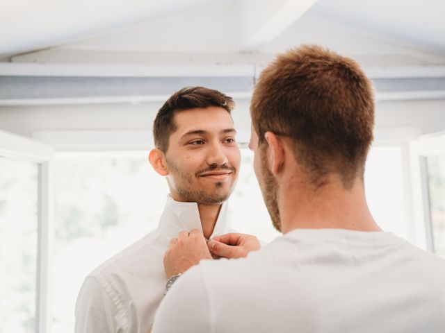
<path id="1" fill-rule="evenodd" d="M 55 161 L 54 332 L 74 330 L 83 279 L 156 228 L 168 193 L 147 154 L 100 153 Z"/>

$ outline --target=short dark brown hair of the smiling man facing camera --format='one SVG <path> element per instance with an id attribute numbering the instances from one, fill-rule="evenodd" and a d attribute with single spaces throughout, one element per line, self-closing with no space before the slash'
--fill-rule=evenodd
<path id="1" fill-rule="evenodd" d="M 154 119 L 154 144 L 161 151 L 168 150 L 168 140 L 177 126 L 174 121 L 175 112 L 195 108 L 219 106 L 231 113 L 235 107 L 234 100 L 218 90 L 205 87 L 185 87 L 165 101 Z"/>

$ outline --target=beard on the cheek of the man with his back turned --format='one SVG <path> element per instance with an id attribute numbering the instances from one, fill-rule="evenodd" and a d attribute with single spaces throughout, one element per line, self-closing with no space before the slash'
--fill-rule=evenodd
<path id="1" fill-rule="evenodd" d="M 268 169 L 265 151 L 261 151 L 261 180 L 259 179 L 259 187 L 261 188 L 270 219 L 272 219 L 273 227 L 282 232 L 280 210 L 278 209 L 277 201 L 277 181 Z"/>

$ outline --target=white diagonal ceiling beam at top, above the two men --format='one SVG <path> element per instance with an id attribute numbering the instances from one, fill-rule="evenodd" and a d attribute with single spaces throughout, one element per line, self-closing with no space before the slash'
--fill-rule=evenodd
<path id="1" fill-rule="evenodd" d="M 241 51 L 256 51 L 272 42 L 318 0 L 244 0 Z"/>

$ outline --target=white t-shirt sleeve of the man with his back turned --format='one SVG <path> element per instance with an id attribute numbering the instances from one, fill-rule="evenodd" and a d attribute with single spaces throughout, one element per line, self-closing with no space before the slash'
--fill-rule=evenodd
<path id="1" fill-rule="evenodd" d="M 197 265 L 181 275 L 162 300 L 152 333 L 209 333 L 211 326 L 211 309 Z"/>

